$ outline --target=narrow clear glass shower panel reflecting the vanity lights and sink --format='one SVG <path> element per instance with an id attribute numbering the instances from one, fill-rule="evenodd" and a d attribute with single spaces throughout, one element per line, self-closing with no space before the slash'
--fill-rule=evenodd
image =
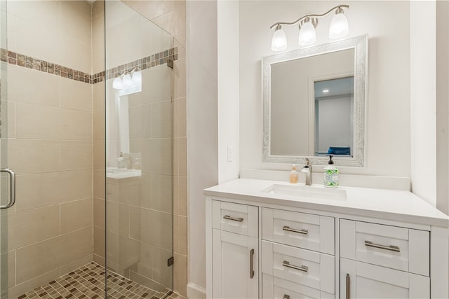
<path id="1" fill-rule="evenodd" d="M 107 277 L 149 298 L 173 290 L 172 56 L 168 32 L 105 2 Z"/>

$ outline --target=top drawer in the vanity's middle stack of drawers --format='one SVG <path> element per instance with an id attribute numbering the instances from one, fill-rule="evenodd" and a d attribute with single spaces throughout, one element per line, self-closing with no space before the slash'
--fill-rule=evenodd
<path id="1" fill-rule="evenodd" d="M 335 254 L 335 218 L 263 208 L 262 239 Z"/>

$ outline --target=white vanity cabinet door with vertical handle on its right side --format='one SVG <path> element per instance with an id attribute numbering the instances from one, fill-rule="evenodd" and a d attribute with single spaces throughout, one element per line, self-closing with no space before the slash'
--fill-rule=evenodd
<path id="1" fill-rule="evenodd" d="M 258 298 L 258 239 L 213 229 L 213 298 Z"/>

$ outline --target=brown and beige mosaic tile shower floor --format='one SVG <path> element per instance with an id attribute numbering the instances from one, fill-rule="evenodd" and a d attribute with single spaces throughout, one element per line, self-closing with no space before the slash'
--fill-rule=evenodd
<path id="1" fill-rule="evenodd" d="M 58 279 L 50 281 L 48 284 L 34 288 L 18 299 L 27 298 L 45 298 L 45 299 L 62 299 L 62 298 L 85 298 L 85 299 L 102 299 L 105 298 L 105 268 L 97 263 L 88 263 L 69 274 L 65 274 Z M 112 271 L 107 272 L 107 298 L 119 299 L 183 299 L 177 293 L 168 292 L 160 293 L 142 286 L 135 281 L 130 281 L 119 274 Z"/>

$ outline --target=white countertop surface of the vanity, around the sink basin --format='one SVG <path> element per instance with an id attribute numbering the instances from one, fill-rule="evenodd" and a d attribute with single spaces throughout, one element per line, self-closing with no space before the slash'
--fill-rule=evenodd
<path id="1" fill-rule="evenodd" d="M 228 197 L 303 209 L 384 218 L 392 221 L 449 226 L 449 216 L 408 191 L 340 186 L 336 190 L 346 190 L 347 199 L 335 200 L 278 195 L 263 191 L 273 184 L 304 186 L 304 183 L 290 184 L 282 181 L 236 179 L 207 188 L 204 190 L 204 194 L 213 197 Z M 328 189 L 319 184 L 314 184 L 311 188 Z"/>

